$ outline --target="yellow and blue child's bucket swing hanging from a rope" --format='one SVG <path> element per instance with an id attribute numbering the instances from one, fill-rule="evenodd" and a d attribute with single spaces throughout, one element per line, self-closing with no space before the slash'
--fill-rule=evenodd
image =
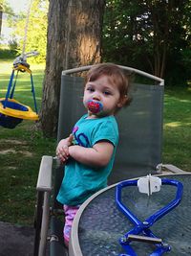
<path id="1" fill-rule="evenodd" d="M 15 128 L 20 124 L 23 119 L 26 120 L 38 120 L 37 105 L 35 100 L 35 91 L 32 80 L 32 70 L 30 64 L 27 62 L 27 58 L 37 56 L 38 52 L 32 51 L 30 53 L 22 54 L 13 61 L 13 67 L 11 72 L 11 78 L 8 84 L 8 90 L 5 98 L 0 99 L 0 126 L 4 128 Z M 16 76 L 15 76 L 16 72 Z M 34 103 L 35 112 L 28 105 L 23 105 L 13 99 L 14 90 L 18 78 L 18 73 L 27 72 L 31 76 L 32 84 L 32 97 Z"/>

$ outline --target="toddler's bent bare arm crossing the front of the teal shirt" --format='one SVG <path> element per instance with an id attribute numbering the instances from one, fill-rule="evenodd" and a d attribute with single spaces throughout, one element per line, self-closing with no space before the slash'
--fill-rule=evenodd
<path id="1" fill-rule="evenodd" d="M 69 147 L 69 154 L 74 160 L 94 167 L 106 166 L 114 151 L 114 145 L 107 141 L 101 141 L 93 148 L 84 148 L 78 145 Z"/>

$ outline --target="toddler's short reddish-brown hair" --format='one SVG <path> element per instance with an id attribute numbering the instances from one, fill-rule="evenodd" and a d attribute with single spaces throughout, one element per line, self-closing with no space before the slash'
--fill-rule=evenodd
<path id="1" fill-rule="evenodd" d="M 89 70 L 86 76 L 88 81 L 96 81 L 101 76 L 107 76 L 112 84 L 117 85 L 120 93 L 122 106 L 129 105 L 132 99 L 129 97 L 130 78 L 127 77 L 123 70 L 113 63 L 96 64 Z"/>

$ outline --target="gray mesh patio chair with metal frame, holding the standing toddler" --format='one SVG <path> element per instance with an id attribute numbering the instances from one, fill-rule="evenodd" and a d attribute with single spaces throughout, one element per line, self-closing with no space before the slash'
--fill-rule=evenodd
<path id="1" fill-rule="evenodd" d="M 62 72 L 57 141 L 67 137 L 76 120 L 85 113 L 82 105 L 84 81 L 83 78 L 77 77 L 76 73 L 87 71 L 90 67 Z M 133 83 L 132 104 L 117 114 L 120 138 L 109 184 L 142 175 L 157 175 L 162 167 L 164 81 L 137 69 L 120 67 L 134 73 L 134 76 L 147 78 L 149 82 Z M 180 172 L 172 165 L 165 165 L 165 167 Z M 68 253 L 62 240 L 63 216 L 60 219 L 61 209 L 55 199 L 62 176 L 63 167 L 57 163 L 53 164 L 53 156 L 43 156 L 36 187 L 34 256 L 46 254 L 63 256 Z M 47 242 L 48 236 L 49 242 Z"/>

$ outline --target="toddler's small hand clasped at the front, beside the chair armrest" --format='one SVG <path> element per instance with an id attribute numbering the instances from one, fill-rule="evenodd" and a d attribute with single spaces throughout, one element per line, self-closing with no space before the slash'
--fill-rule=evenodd
<path id="1" fill-rule="evenodd" d="M 61 140 L 57 145 L 56 155 L 62 163 L 65 163 L 70 157 L 69 147 L 72 145 L 72 142 L 73 134 L 70 134 L 68 138 Z"/>

